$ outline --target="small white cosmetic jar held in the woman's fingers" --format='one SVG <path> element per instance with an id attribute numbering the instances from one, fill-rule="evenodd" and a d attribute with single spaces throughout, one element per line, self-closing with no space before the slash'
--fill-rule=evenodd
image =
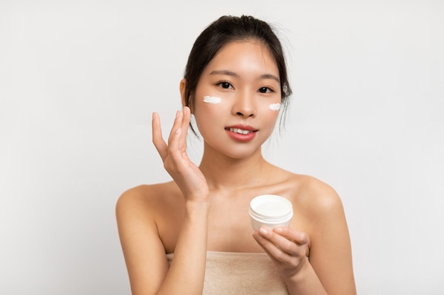
<path id="1" fill-rule="evenodd" d="M 253 230 L 260 226 L 269 229 L 275 226 L 289 226 L 293 217 L 292 202 L 278 195 L 260 195 L 250 202 L 250 222 Z"/>

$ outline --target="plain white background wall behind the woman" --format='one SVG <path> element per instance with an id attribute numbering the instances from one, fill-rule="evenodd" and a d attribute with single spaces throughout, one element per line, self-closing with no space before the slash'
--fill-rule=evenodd
<path id="1" fill-rule="evenodd" d="M 358 294 L 444 294 L 440 0 L 0 1 L 0 294 L 130 294 L 116 199 L 169 180 L 151 113 L 168 132 L 195 38 L 242 13 L 294 91 L 265 156 L 338 191 Z"/>

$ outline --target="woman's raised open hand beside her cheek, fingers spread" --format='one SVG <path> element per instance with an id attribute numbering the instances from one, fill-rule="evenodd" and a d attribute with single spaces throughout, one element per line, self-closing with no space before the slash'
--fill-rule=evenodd
<path id="1" fill-rule="evenodd" d="M 162 138 L 160 118 L 152 114 L 152 143 L 163 161 L 165 170 L 177 183 L 185 199 L 207 201 L 209 188 L 204 174 L 187 155 L 187 131 L 191 112 L 188 107 L 178 110 L 168 138 L 168 144 Z"/>

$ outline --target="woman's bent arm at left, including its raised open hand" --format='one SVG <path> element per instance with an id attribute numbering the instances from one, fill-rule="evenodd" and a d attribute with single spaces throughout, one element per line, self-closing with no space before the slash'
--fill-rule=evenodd
<path id="1" fill-rule="evenodd" d="M 155 223 L 156 203 L 147 204 L 146 196 L 130 191 L 118 201 L 116 215 L 133 295 L 202 294 L 206 265 L 208 224 L 208 185 L 186 154 L 185 137 L 189 126 L 189 108 L 177 112 L 168 143 L 162 139 L 157 114 L 152 120 L 152 141 L 165 169 L 184 195 L 184 216 L 174 249 L 174 259 L 167 266 L 165 247 Z M 155 190 L 150 194 L 156 194 Z M 158 192 L 160 194 L 161 192 Z M 159 202 L 159 201 L 157 201 Z M 183 202 L 183 201 L 181 201 Z M 148 202 L 149 203 L 149 202 Z M 151 214 L 150 214 L 151 213 Z"/>

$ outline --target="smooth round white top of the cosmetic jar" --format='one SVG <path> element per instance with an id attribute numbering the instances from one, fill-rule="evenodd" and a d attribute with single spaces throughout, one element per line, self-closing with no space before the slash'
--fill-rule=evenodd
<path id="1" fill-rule="evenodd" d="M 281 221 L 293 216 L 292 202 L 278 195 L 260 195 L 250 202 L 250 215 L 263 221 Z"/>

